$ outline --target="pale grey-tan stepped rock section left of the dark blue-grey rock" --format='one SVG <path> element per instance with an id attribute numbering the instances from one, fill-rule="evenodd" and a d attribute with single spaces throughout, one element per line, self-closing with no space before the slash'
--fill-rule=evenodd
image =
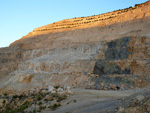
<path id="1" fill-rule="evenodd" d="M 103 59 L 102 50 L 106 48 L 106 42 L 95 42 L 69 48 L 22 50 L 22 60 L 9 72 L 5 84 L 12 84 L 14 89 L 65 84 L 84 87 L 90 82 L 87 74 L 93 72 L 96 59 Z"/>

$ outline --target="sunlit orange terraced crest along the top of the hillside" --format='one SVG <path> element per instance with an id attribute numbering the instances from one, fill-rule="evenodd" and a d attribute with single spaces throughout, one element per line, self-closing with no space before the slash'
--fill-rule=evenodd
<path id="1" fill-rule="evenodd" d="M 148 17 L 150 16 L 149 4 L 150 2 L 147 1 L 143 4 L 136 4 L 134 7 L 116 10 L 101 15 L 65 19 L 59 22 L 54 22 L 52 24 L 36 28 L 33 30 L 33 32 L 29 33 L 23 38 L 45 33 L 62 32 L 81 28 L 90 28 L 95 26 L 106 26 L 114 23 L 120 23 L 124 21 L 131 21 L 143 17 Z"/>

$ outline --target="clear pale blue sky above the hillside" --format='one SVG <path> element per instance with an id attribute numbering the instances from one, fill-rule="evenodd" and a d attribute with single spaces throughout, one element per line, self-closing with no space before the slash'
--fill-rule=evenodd
<path id="1" fill-rule="evenodd" d="M 59 20 L 98 15 L 148 0 L 0 0 L 0 47 L 34 28 Z"/>

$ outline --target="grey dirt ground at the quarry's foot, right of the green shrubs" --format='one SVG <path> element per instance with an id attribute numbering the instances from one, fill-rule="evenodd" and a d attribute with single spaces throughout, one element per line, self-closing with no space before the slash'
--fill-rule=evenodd
<path id="1" fill-rule="evenodd" d="M 150 91 L 145 89 L 126 91 L 74 89 L 73 92 L 73 95 L 62 102 L 61 107 L 44 113 L 133 113 L 136 112 L 135 107 L 143 105 L 150 97 Z"/>

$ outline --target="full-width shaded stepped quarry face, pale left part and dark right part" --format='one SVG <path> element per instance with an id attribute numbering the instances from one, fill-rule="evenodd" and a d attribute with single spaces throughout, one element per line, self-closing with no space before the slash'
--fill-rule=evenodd
<path id="1" fill-rule="evenodd" d="M 19 55 L 15 48 L 10 55 L 16 55 L 15 60 L 12 57 L 9 62 L 1 62 L 1 73 L 8 75 L 3 76 L 7 81 L 1 88 L 9 86 L 8 89 L 25 90 L 47 85 L 101 87 L 102 83 L 128 88 L 147 87 L 150 82 L 149 44 L 148 37 L 123 37 L 69 48 L 19 49 Z M 91 77 L 92 73 L 99 76 Z"/>

